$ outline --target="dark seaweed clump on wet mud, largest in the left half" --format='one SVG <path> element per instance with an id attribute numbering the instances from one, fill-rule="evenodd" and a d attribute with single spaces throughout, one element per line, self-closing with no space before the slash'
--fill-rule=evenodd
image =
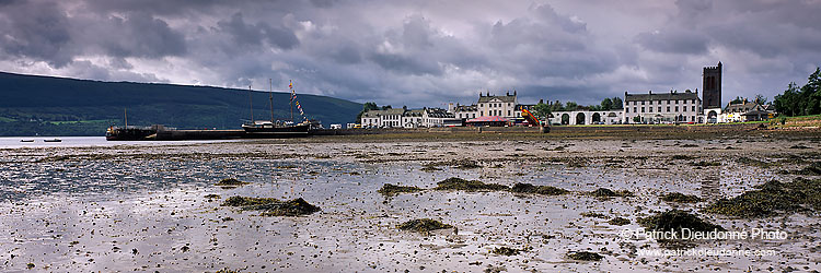
<path id="1" fill-rule="evenodd" d="M 222 205 L 241 206 L 243 211 L 263 211 L 262 216 L 300 216 L 321 210 L 302 198 L 279 201 L 275 198 L 231 197 Z"/>

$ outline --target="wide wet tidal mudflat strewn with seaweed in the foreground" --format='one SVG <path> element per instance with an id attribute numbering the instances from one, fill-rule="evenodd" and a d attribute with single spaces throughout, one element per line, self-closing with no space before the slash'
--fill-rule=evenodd
<path id="1" fill-rule="evenodd" d="M 821 193 L 762 185 L 814 187 L 820 161 L 817 138 L 759 135 L 7 149 L 0 271 L 812 271 Z M 786 238 L 631 234 L 671 211 Z M 764 254 L 647 252 L 704 248 Z"/>

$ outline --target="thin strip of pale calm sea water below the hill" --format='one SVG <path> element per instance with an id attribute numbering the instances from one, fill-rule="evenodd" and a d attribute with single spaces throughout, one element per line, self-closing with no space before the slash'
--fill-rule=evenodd
<path id="1" fill-rule="evenodd" d="M 59 139 L 61 142 L 45 142 L 45 140 Z M 22 140 L 34 140 L 34 142 L 22 142 Z M 113 145 L 162 145 L 162 144 L 188 144 L 188 143 L 212 143 L 242 140 L 198 140 L 198 141 L 106 141 L 105 136 L 2 136 L 0 149 L 19 147 L 82 147 L 82 146 L 113 146 Z"/>

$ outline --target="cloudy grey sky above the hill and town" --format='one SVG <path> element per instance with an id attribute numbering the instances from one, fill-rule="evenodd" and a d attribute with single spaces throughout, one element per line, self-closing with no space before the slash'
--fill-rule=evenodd
<path id="1" fill-rule="evenodd" d="M 0 71 L 327 95 L 415 107 L 513 90 L 598 104 L 805 84 L 821 0 L 0 0 Z"/>

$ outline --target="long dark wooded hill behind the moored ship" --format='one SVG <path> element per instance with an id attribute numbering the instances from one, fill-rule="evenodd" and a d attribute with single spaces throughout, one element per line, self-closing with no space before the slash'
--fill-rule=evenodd
<path id="1" fill-rule="evenodd" d="M 0 135 L 103 135 L 111 124 L 240 129 L 251 118 L 247 90 L 100 82 L 0 72 Z M 288 93 L 274 93 L 274 116 L 290 117 Z M 308 118 L 352 122 L 362 105 L 297 94 Z M 267 92 L 253 92 L 255 119 L 270 119 Z M 294 107 L 294 117 L 299 111 Z M 294 118 L 297 119 L 297 118 Z"/>

